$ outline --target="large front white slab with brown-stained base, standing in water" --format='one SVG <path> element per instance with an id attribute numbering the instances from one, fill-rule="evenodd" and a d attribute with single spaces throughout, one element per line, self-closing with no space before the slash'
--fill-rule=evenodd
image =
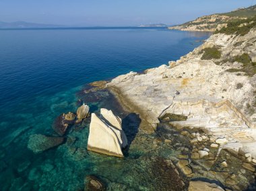
<path id="1" fill-rule="evenodd" d="M 121 131 L 92 113 L 87 149 L 97 153 L 123 157 Z"/>

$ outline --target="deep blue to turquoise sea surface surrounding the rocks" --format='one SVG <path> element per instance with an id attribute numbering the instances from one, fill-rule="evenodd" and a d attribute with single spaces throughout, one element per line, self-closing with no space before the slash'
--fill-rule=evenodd
<path id="1" fill-rule="evenodd" d="M 0 190 L 84 190 L 88 175 L 104 180 L 108 190 L 154 190 L 159 180 L 152 178 L 160 174 L 149 166 L 161 161 L 159 156 L 177 154 L 157 141 L 148 154 L 160 135 L 128 130 L 124 159 L 86 150 L 89 120 L 71 127 L 63 145 L 43 153 L 30 151 L 28 139 L 38 133 L 57 136 L 55 118 L 88 99 L 81 93 L 86 84 L 167 65 L 208 36 L 165 28 L 0 30 Z M 124 118 L 127 128 L 139 123 L 135 114 L 117 113 L 122 110 L 108 92 L 100 96 L 87 100 L 91 112 L 105 107 Z"/>

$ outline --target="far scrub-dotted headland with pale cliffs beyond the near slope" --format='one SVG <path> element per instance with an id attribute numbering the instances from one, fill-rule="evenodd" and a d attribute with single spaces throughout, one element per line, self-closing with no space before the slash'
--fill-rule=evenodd
<path id="1" fill-rule="evenodd" d="M 213 15 L 206 15 L 199 17 L 194 21 L 181 24 L 179 26 L 169 27 L 170 30 L 185 30 L 185 31 L 204 31 L 204 32 L 214 32 L 216 29 L 226 26 L 228 22 L 240 19 L 247 19 L 256 15 L 256 5 L 236 9 L 229 13 L 219 13 Z"/>

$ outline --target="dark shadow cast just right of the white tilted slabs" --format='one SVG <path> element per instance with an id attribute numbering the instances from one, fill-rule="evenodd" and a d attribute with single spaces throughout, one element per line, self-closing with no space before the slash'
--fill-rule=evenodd
<path id="1" fill-rule="evenodd" d="M 125 155 L 128 155 L 129 147 L 135 139 L 137 132 L 139 131 L 139 124 L 141 123 L 141 119 L 139 118 L 139 114 L 130 113 L 122 120 L 122 128 L 127 137 L 128 145 L 124 151 Z"/>

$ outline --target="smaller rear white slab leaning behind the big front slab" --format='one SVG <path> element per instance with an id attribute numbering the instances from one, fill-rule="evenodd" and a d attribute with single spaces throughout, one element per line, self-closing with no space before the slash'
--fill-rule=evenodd
<path id="1" fill-rule="evenodd" d="M 110 126 L 114 126 L 118 128 L 121 132 L 121 145 L 122 148 L 125 148 L 128 144 L 127 137 L 125 132 L 122 129 L 122 120 L 119 116 L 115 116 L 111 110 L 107 110 L 104 108 L 100 109 L 100 118 L 104 120 L 104 122 L 108 123 Z"/>

